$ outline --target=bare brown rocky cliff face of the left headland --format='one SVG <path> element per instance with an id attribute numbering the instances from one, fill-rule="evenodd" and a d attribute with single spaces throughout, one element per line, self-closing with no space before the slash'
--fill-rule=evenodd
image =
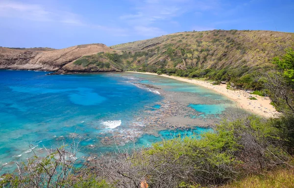
<path id="1" fill-rule="evenodd" d="M 12 70 L 41 70 L 61 72 L 88 72 L 100 71 L 89 67 L 73 65 L 73 61 L 84 56 L 98 52 L 111 52 L 113 49 L 103 44 L 79 45 L 64 49 L 47 50 L 46 48 L 34 50 L 12 49 L 0 47 L 0 69 Z M 104 71 L 104 70 L 101 70 Z M 109 69 L 107 71 L 121 71 Z"/>

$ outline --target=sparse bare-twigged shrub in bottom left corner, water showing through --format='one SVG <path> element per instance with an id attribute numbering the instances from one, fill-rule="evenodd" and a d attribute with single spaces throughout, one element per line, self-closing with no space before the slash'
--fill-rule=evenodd
<path id="1" fill-rule="evenodd" d="M 3 188 L 114 188 L 97 175 L 75 169 L 76 145 L 66 148 L 46 149 L 47 156 L 36 154 L 26 163 L 17 163 L 15 173 L 0 176 Z M 33 149 L 32 149 L 33 151 Z M 34 153 L 34 151 L 33 151 Z"/>

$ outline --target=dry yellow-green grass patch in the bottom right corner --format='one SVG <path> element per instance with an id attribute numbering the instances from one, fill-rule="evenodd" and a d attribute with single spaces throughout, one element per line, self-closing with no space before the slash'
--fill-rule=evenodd
<path id="1" fill-rule="evenodd" d="M 294 170 L 280 169 L 265 175 L 251 175 L 237 183 L 219 188 L 294 188 Z"/>

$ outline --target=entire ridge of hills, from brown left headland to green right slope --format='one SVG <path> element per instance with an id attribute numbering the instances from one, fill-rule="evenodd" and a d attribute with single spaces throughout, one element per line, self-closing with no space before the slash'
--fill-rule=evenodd
<path id="1" fill-rule="evenodd" d="M 59 72 L 149 71 L 230 80 L 272 66 L 294 47 L 294 33 L 251 30 L 181 32 L 111 47 L 0 47 L 0 69 Z M 102 53 L 103 52 L 103 53 Z"/>

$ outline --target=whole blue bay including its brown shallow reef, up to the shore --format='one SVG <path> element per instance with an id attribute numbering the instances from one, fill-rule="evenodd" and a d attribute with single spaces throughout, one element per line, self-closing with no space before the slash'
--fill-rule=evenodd
<path id="1" fill-rule="evenodd" d="M 161 76 L 47 73 L 0 70 L 0 165 L 4 171 L 15 168 L 15 161 L 31 157 L 32 149 L 42 156 L 45 147 L 54 149 L 73 140 L 79 141 L 78 155 L 87 157 L 114 151 L 115 139 L 118 147 L 147 147 L 178 135 L 199 135 L 212 131 L 207 124 L 233 108 L 224 96 Z M 166 117 L 170 109 L 175 110 Z M 187 119 L 192 130 L 167 128 L 176 121 L 165 124 L 165 119 L 177 116 Z M 159 118 L 149 122 L 148 117 Z M 204 122 L 206 128 L 198 126 Z"/>

